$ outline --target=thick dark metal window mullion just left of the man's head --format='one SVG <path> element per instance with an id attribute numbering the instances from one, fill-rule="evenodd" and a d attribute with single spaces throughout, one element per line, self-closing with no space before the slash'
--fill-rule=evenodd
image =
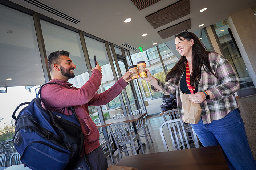
<path id="1" fill-rule="evenodd" d="M 46 54 L 46 49 L 44 44 L 44 37 L 42 34 L 42 27 L 41 27 L 38 13 L 33 14 L 33 20 L 34 20 L 34 27 L 36 29 L 36 37 L 37 37 L 38 48 L 39 48 L 39 53 L 40 53 L 40 58 L 42 63 L 42 69 L 44 73 L 44 80 L 45 82 L 49 82 L 51 80 L 51 75 L 50 75 L 50 69 L 48 67 L 48 59 L 47 59 L 47 54 Z"/>

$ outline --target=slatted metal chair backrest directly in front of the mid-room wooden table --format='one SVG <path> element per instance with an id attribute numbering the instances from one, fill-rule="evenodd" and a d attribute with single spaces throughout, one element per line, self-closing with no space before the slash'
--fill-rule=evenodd
<path id="1" fill-rule="evenodd" d="M 114 136 L 115 143 L 126 143 L 130 141 L 131 129 L 125 122 L 113 123 L 109 126 L 110 133 Z M 118 141 L 117 141 L 118 140 Z"/>

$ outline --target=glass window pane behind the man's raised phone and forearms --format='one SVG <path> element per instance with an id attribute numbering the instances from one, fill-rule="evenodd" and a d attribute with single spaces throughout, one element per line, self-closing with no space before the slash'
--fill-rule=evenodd
<path id="1" fill-rule="evenodd" d="M 103 77 L 98 92 L 102 93 L 115 84 L 109 57 L 107 56 L 106 46 L 105 43 L 99 42 L 86 36 L 85 42 L 91 63 L 94 62 L 93 56 L 96 55 L 96 60 L 98 61 L 99 65 L 101 65 Z M 113 101 L 107 103 L 107 105 L 102 106 L 102 111 L 105 120 L 112 118 L 115 114 L 123 113 L 119 96 L 113 99 Z"/>

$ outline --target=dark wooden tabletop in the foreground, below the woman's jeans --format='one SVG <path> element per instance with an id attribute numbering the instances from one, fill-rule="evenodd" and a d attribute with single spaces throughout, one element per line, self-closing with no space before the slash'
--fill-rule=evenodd
<path id="1" fill-rule="evenodd" d="M 229 170 L 219 145 L 125 156 L 117 165 L 138 170 Z"/>

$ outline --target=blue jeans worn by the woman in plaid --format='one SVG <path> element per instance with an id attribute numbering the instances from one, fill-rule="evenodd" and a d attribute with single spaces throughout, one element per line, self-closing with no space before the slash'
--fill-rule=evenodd
<path id="1" fill-rule="evenodd" d="M 244 122 L 238 109 L 222 119 L 191 124 L 203 146 L 220 145 L 229 169 L 256 170 L 256 162 L 248 144 Z"/>

